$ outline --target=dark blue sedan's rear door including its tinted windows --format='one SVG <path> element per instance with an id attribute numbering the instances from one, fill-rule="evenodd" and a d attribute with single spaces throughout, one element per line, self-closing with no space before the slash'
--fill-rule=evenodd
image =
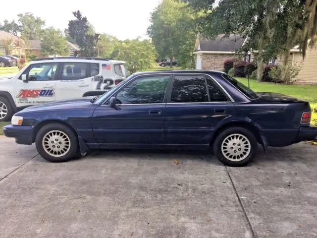
<path id="1" fill-rule="evenodd" d="M 234 116 L 226 93 L 207 75 L 176 74 L 164 118 L 168 144 L 209 144 L 222 120 Z"/>

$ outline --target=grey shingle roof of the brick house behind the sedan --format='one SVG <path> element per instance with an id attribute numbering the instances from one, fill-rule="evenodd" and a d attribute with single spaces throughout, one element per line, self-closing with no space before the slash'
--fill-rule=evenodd
<path id="1" fill-rule="evenodd" d="M 240 34 L 218 35 L 214 40 L 197 37 L 194 53 L 233 53 L 241 48 L 246 37 Z"/>

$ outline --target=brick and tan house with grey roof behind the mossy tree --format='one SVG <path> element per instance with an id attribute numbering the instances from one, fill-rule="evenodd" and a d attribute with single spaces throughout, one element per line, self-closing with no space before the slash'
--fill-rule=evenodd
<path id="1" fill-rule="evenodd" d="M 241 60 L 252 61 L 257 57 L 258 51 L 252 51 L 247 58 L 242 58 L 236 54 L 247 38 L 239 34 L 230 34 L 224 38 L 224 35 L 217 36 L 214 40 L 207 40 L 197 37 L 194 54 L 196 55 L 196 69 L 223 70 L 223 62 L 227 58 L 241 58 Z M 317 83 L 317 48 L 308 48 L 305 60 L 295 46 L 289 52 L 289 63 L 300 66 L 301 71 L 296 79 L 298 83 Z M 280 65 L 283 63 L 282 57 L 271 59 L 269 64 Z"/>

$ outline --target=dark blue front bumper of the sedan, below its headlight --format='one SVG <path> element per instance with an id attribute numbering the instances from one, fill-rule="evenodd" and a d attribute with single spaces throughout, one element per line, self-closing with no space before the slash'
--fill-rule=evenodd
<path id="1" fill-rule="evenodd" d="M 3 127 L 4 135 L 14 137 L 17 144 L 32 145 L 33 127 L 25 125 L 6 125 Z"/>

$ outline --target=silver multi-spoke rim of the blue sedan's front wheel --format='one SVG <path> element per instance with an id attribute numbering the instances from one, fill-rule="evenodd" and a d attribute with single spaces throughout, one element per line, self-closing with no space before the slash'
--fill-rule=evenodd
<path id="1" fill-rule="evenodd" d="M 70 150 L 70 139 L 65 132 L 60 130 L 51 130 L 46 133 L 42 139 L 44 151 L 53 156 L 61 157 Z"/>

